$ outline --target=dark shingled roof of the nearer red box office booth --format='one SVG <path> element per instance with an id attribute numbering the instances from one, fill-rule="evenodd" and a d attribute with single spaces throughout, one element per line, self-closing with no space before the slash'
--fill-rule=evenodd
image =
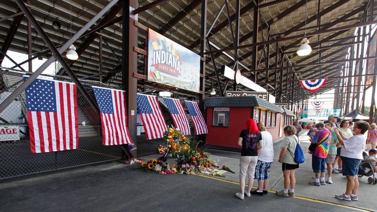
<path id="1" fill-rule="evenodd" d="M 247 97 L 207 97 L 204 107 L 260 107 L 270 111 L 282 113 L 279 106 L 254 96 Z"/>

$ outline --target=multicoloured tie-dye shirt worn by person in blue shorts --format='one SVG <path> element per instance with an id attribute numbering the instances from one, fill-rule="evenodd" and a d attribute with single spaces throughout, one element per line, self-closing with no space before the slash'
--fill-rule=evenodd
<path id="1" fill-rule="evenodd" d="M 321 142 L 322 143 L 317 146 L 316 151 L 310 151 L 310 154 L 313 154 L 314 156 L 317 156 L 319 158 L 326 158 L 331 143 L 330 131 L 328 129 L 322 129 L 318 131 L 316 135 L 314 135 L 312 142 L 316 144 L 319 144 Z"/>

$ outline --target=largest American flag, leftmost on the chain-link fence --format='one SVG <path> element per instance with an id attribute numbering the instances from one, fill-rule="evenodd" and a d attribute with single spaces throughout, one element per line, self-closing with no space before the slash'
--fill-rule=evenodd
<path id="1" fill-rule="evenodd" d="M 77 149 L 76 85 L 37 78 L 26 88 L 25 96 L 31 151 Z"/>

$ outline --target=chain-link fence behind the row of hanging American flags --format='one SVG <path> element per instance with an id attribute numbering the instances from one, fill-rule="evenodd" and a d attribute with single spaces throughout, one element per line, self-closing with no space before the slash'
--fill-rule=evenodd
<path id="1" fill-rule="evenodd" d="M 4 73 L 1 73 L 0 76 L 1 103 L 20 86 L 23 78 Z M 60 76 L 49 78 L 60 81 L 70 80 Z M 104 85 L 95 81 L 81 80 L 81 83 L 95 102 L 97 101 L 91 86 L 124 90 L 121 87 Z M 170 117 L 169 111 L 161 101 L 162 98 L 159 99 L 159 102 L 164 116 Z M 119 145 L 104 146 L 102 144 L 101 119 L 79 90 L 77 90 L 77 108 L 78 149 L 32 153 L 25 92 L 22 92 L 0 114 L 0 179 L 121 159 L 124 152 Z M 158 146 L 165 143 L 164 139 L 146 140 L 144 128 L 139 117 L 137 122 L 137 141 L 135 142 L 138 147 L 137 156 L 141 157 L 157 153 Z M 173 124 L 171 117 L 167 118 L 166 122 L 168 125 Z"/>

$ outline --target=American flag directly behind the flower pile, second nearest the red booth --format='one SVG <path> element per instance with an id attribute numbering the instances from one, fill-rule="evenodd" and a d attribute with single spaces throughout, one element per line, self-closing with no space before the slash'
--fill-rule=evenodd
<path id="1" fill-rule="evenodd" d="M 174 125 L 184 135 L 190 135 L 190 125 L 186 113 L 182 107 L 181 100 L 163 97 L 170 114 L 173 117 Z"/>

